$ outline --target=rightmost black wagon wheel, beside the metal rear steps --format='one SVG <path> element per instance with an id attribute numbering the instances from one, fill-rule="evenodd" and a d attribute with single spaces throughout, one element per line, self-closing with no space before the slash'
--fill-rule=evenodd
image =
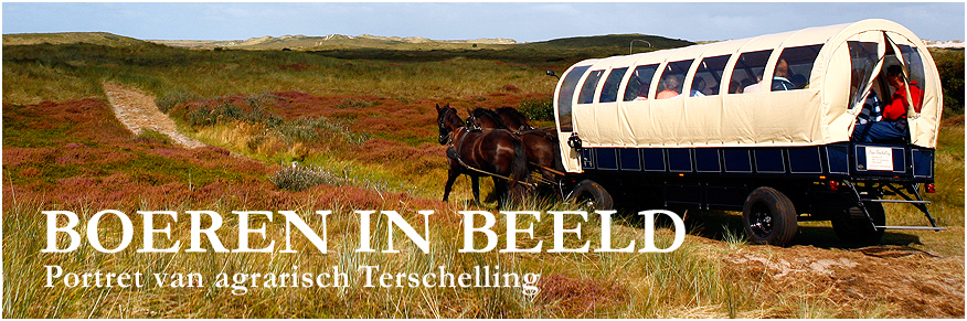
<path id="1" fill-rule="evenodd" d="M 886 225 L 886 214 L 883 211 L 883 204 L 864 203 L 867 212 L 870 213 L 870 218 L 873 223 L 883 226 Z M 854 205 L 836 213 L 832 216 L 832 231 L 836 236 L 848 243 L 859 245 L 873 245 L 880 243 L 883 238 L 883 228 L 873 228 L 870 224 L 870 218 L 863 214 L 860 206 Z"/>

